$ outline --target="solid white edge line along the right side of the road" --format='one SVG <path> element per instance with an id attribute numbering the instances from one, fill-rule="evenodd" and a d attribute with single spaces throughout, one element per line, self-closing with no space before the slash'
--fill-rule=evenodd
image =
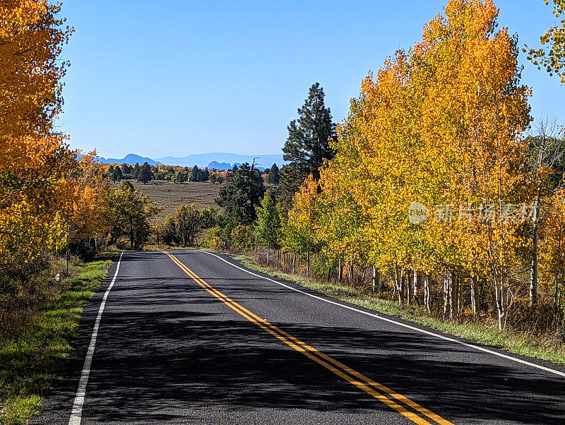
<path id="1" fill-rule="evenodd" d="M 403 328 L 408 328 L 408 329 L 411 329 L 411 330 L 415 330 L 416 332 L 424 333 L 424 334 L 426 334 L 426 335 L 432 335 L 433 337 L 440 338 L 441 340 L 446 340 L 446 341 L 449 341 L 449 342 L 456 342 L 456 344 L 464 345 L 465 347 L 470 347 L 470 348 L 472 348 L 472 349 L 477 349 L 477 350 L 482 351 L 482 352 L 485 352 L 485 353 L 494 354 L 495 356 L 503 357 L 504 359 L 509 359 L 509 360 L 511 360 L 511 361 L 516 361 L 517 363 L 526 364 L 526 365 L 528 365 L 528 366 L 535 367 L 536 369 L 541 369 L 542 371 L 546 371 L 546 372 L 549 372 L 549 373 L 554 373 L 555 375 L 559 375 L 559 376 L 564 376 L 564 377 L 565 377 L 565 372 L 556 371 L 555 369 L 550 369 L 550 368 L 545 367 L 545 366 L 540 366 L 539 364 L 530 363 L 530 361 L 525 361 L 525 360 L 523 360 L 523 359 L 518 359 L 518 358 L 516 358 L 516 357 L 512 357 L 512 356 L 508 356 L 508 355 L 506 355 L 506 354 L 502 354 L 502 353 L 499 353 L 499 352 L 492 351 L 492 349 L 487 349 L 487 348 L 484 348 L 484 347 L 480 347 L 479 345 L 468 344 L 467 342 L 463 342 L 463 341 L 460 341 L 460 340 L 456 340 L 455 338 L 450 338 L 450 337 L 446 337 L 446 336 L 444 336 L 444 335 L 439 335 L 439 334 L 437 334 L 437 333 L 429 332 L 429 330 L 424 330 L 424 329 L 416 328 L 415 326 L 410 326 L 410 325 L 407 325 L 407 324 L 405 324 L 405 323 L 393 321 L 393 320 L 390 319 L 390 318 L 386 318 L 386 317 L 383 317 L 383 316 L 379 316 L 378 314 L 369 313 L 369 312 L 367 312 L 367 311 L 362 311 L 362 310 L 359 310 L 359 309 L 355 309 L 355 307 L 346 306 L 345 304 L 341 304 L 341 303 L 338 303 L 338 302 L 335 302 L 335 301 L 331 301 L 330 299 L 325 299 L 325 298 L 322 298 L 322 297 L 318 297 L 318 296 L 316 296 L 316 295 L 314 295 L 314 294 L 309 294 L 308 292 L 304 292 L 304 291 L 301 291 L 300 289 L 296 289 L 296 288 L 290 287 L 289 285 L 285 285 L 283 282 L 277 282 L 276 280 L 270 279 L 269 277 L 264 277 L 264 276 L 261 276 L 261 275 L 257 275 L 256 273 L 250 272 L 249 270 L 246 270 L 246 269 L 244 269 L 244 268 L 242 268 L 242 267 L 239 267 L 238 265 L 235 265 L 235 264 L 233 264 L 233 263 L 230 263 L 230 261 L 227 261 L 227 260 L 225 260 L 224 258 L 222 258 L 222 257 L 220 257 L 220 256 L 217 256 L 217 255 L 214 254 L 214 253 L 211 253 L 211 252 L 208 252 L 208 251 L 201 251 L 201 252 L 207 253 L 207 254 L 210 255 L 210 256 L 214 256 L 214 257 L 216 257 L 216 258 L 219 258 L 219 259 L 222 260 L 224 263 L 227 263 L 227 264 L 229 264 L 229 265 L 232 265 L 234 268 L 239 268 L 239 270 L 243 270 L 245 273 L 249 273 L 250 275 L 254 275 L 254 276 L 256 276 L 256 277 L 260 277 L 261 279 L 269 280 L 270 282 L 276 283 L 277 285 L 283 286 L 283 287 L 288 288 L 288 289 L 292 289 L 292 290 L 295 291 L 295 292 L 300 292 L 300 294 L 307 295 L 308 297 L 312 297 L 312 298 L 315 298 L 315 299 L 319 299 L 320 301 L 324 301 L 324 302 L 329 303 L 329 304 L 334 304 L 335 306 L 340 306 L 340 307 L 343 307 L 344 309 L 349 309 L 349 310 L 352 310 L 352 311 L 357 311 L 357 313 L 362 313 L 362 314 L 365 314 L 365 315 L 367 315 L 367 316 L 371 316 L 371 317 L 374 317 L 374 318 L 378 318 L 378 319 L 381 320 L 381 321 L 386 321 L 386 322 L 389 322 L 389 323 L 394 323 L 395 325 L 399 325 L 399 326 L 402 326 Z"/>

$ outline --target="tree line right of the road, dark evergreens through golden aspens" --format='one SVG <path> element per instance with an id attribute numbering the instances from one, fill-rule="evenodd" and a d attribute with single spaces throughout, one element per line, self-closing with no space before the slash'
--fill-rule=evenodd
<path id="1" fill-rule="evenodd" d="M 565 142 L 533 123 L 498 13 L 449 1 L 421 42 L 364 79 L 337 126 L 313 85 L 280 186 L 265 191 L 249 165 L 234 174 L 203 244 L 264 246 L 444 318 L 563 333 Z"/>

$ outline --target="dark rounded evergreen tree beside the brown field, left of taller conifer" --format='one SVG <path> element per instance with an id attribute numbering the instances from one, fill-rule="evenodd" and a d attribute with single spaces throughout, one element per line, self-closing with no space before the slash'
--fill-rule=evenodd
<path id="1" fill-rule="evenodd" d="M 261 203 L 263 191 L 261 173 L 245 162 L 234 172 L 230 183 L 220 189 L 215 202 L 225 208 L 231 222 L 250 225 L 257 217 L 255 208 Z"/>

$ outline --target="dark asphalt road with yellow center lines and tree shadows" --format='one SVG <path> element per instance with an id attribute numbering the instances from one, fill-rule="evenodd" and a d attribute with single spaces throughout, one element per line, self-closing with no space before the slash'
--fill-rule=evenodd
<path id="1" fill-rule="evenodd" d="M 170 253 L 124 253 L 75 423 L 565 423 L 565 376 L 277 285 L 229 256 Z M 69 424 L 116 268 L 32 423 Z"/>

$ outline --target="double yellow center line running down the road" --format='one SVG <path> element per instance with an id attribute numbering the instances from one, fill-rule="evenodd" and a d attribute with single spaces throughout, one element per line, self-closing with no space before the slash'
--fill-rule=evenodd
<path id="1" fill-rule="evenodd" d="M 206 289 L 206 291 L 212 294 L 213 297 L 222 301 L 240 316 L 243 316 L 251 323 L 254 323 L 259 328 L 270 333 L 270 335 L 273 335 L 278 340 L 295 349 L 297 352 L 300 352 L 309 359 L 316 361 L 317 364 L 320 364 L 329 371 L 332 371 L 333 373 L 335 373 L 335 375 L 345 379 L 345 381 L 352 383 L 357 388 L 363 390 L 365 393 L 375 397 L 376 400 L 383 402 L 385 405 L 391 407 L 391 409 L 396 410 L 398 413 L 410 419 L 410 421 L 414 422 L 415 424 L 431 425 L 431 423 L 427 419 L 432 419 L 432 421 L 441 425 L 451 424 L 450 421 L 447 421 L 434 412 L 430 412 L 425 407 L 422 407 L 416 402 L 408 399 L 408 397 L 396 393 L 396 391 L 391 390 L 391 388 L 388 388 L 385 385 L 373 381 L 371 378 L 367 378 L 367 376 L 362 375 L 362 373 L 351 369 L 349 366 L 345 366 L 345 364 L 341 363 L 340 361 L 337 361 L 332 357 L 319 352 L 317 349 L 311 347 L 306 342 L 302 342 L 289 333 L 286 333 L 284 330 L 277 328 L 275 325 L 257 316 L 255 313 L 252 313 L 241 304 L 237 304 L 237 302 L 233 301 L 229 297 L 226 297 L 225 294 L 222 294 L 222 292 L 218 291 L 218 289 L 210 286 L 207 282 L 201 279 L 201 277 L 198 277 L 196 273 L 186 267 L 186 265 L 181 263 L 181 261 L 179 261 L 177 257 L 173 256 L 167 251 L 163 252 L 167 254 L 167 256 L 169 256 L 169 258 L 171 258 L 171 260 L 175 264 L 177 264 L 179 268 L 184 271 L 184 273 L 189 275 L 189 277 L 191 277 L 196 283 L 198 283 L 198 285 L 203 287 L 203 289 Z M 427 419 L 424 419 L 424 417 Z"/>

